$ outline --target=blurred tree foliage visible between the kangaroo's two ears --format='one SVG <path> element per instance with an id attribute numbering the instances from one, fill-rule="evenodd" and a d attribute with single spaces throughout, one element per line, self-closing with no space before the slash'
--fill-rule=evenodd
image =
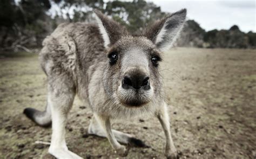
<path id="1" fill-rule="evenodd" d="M 119 23 L 136 32 L 142 30 L 152 21 L 164 17 L 160 7 L 152 2 L 134 0 L 132 2 L 110 1 L 106 3 L 105 13 Z"/>

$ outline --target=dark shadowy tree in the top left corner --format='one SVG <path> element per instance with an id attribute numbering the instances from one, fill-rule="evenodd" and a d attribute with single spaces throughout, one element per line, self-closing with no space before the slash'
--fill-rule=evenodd
<path id="1" fill-rule="evenodd" d="M 1 47 L 23 47 L 46 32 L 42 21 L 51 8 L 49 0 L 22 0 L 17 4 L 14 0 L 1 0 L 0 8 Z"/>

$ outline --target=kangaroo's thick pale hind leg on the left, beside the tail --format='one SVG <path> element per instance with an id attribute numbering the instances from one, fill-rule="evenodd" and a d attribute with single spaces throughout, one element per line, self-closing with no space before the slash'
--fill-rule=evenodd
<path id="1" fill-rule="evenodd" d="M 52 117 L 49 153 L 57 158 L 81 158 L 68 149 L 65 141 L 65 125 L 75 97 L 75 85 L 67 75 L 49 77 L 48 92 Z"/>

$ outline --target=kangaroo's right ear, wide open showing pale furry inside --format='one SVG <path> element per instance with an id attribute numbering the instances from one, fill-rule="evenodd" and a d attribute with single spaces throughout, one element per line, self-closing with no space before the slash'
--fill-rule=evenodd
<path id="1" fill-rule="evenodd" d="M 144 36 L 152 40 L 161 51 L 170 49 L 183 27 L 186 13 L 187 10 L 182 9 L 156 21 L 156 23 L 147 28 Z"/>

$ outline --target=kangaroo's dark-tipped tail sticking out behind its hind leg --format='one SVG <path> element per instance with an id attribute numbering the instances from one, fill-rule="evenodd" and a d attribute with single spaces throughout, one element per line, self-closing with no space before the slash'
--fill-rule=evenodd
<path id="1" fill-rule="evenodd" d="M 51 109 L 49 104 L 46 106 L 46 110 L 43 112 L 28 107 L 24 109 L 23 113 L 26 115 L 26 117 L 36 122 L 36 124 L 39 126 L 51 126 Z"/>

